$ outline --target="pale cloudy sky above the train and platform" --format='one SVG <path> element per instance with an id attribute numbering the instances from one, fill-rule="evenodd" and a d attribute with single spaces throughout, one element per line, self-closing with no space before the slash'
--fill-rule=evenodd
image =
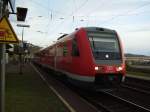
<path id="1" fill-rule="evenodd" d="M 118 32 L 126 53 L 150 56 L 150 0 L 16 0 L 28 8 L 25 22 L 10 22 L 21 39 L 41 47 L 53 44 L 63 33 L 79 27 L 104 27 Z"/>

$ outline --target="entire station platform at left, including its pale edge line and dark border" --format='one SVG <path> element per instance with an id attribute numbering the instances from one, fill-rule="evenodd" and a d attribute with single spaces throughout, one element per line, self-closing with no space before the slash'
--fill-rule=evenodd
<path id="1" fill-rule="evenodd" d="M 61 82 L 43 75 L 31 63 L 6 69 L 6 112 L 98 112 Z M 47 81 L 48 80 L 48 81 Z"/>

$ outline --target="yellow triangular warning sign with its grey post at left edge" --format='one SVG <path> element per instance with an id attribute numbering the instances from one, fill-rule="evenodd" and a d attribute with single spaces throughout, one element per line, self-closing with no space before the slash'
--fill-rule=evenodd
<path id="1" fill-rule="evenodd" d="M 5 112 L 5 52 L 6 43 L 18 43 L 19 40 L 7 17 L 0 20 L 0 112 Z"/>

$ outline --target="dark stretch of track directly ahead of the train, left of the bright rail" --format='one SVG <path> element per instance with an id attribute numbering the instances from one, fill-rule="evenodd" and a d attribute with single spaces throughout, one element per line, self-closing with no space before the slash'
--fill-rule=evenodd
<path id="1" fill-rule="evenodd" d="M 80 95 L 102 112 L 150 112 L 150 109 L 114 95 L 110 90 Z"/>

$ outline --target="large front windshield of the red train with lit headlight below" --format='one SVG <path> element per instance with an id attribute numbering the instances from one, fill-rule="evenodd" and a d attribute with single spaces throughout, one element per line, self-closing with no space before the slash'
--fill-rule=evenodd
<path id="1" fill-rule="evenodd" d="M 96 60 L 121 59 L 117 35 L 114 33 L 88 33 L 93 55 Z"/>

